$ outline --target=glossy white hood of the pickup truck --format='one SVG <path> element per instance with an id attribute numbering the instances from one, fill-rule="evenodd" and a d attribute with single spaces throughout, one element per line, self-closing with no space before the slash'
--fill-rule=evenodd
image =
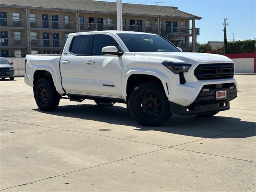
<path id="1" fill-rule="evenodd" d="M 172 62 L 185 62 L 187 64 L 193 64 L 196 61 L 206 61 L 206 62 L 233 62 L 230 58 L 209 53 L 191 53 L 191 52 L 135 52 L 135 56 L 138 57 L 148 57 L 148 58 L 158 58 L 159 60 L 166 60 Z"/>

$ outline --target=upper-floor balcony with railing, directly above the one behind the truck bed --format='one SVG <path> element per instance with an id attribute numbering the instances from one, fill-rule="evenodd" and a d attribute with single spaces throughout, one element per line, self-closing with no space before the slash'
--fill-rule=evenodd
<path id="1" fill-rule="evenodd" d="M 30 21 L 31 30 L 66 30 L 66 31 L 76 31 L 76 22 L 60 22 L 60 21 L 43 21 L 35 20 Z"/>

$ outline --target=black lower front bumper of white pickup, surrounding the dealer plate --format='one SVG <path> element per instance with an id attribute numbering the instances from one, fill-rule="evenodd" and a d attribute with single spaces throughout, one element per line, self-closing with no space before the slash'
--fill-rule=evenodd
<path id="1" fill-rule="evenodd" d="M 218 90 L 226 90 L 227 97 L 216 100 L 215 95 Z M 196 115 L 229 110 L 229 102 L 236 97 L 237 88 L 234 83 L 204 85 L 196 100 L 189 106 L 181 106 L 170 102 L 170 112 L 177 115 Z"/>

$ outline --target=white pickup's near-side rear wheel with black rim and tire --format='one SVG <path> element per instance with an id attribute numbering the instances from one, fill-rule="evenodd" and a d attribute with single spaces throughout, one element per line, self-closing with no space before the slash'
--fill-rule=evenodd
<path id="1" fill-rule="evenodd" d="M 34 97 L 38 108 L 42 111 L 53 111 L 60 103 L 60 94 L 56 91 L 52 80 L 45 78 L 36 83 Z"/>

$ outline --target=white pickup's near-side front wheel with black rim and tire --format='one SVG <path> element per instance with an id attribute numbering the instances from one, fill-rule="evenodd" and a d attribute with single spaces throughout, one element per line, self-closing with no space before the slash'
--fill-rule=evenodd
<path id="1" fill-rule="evenodd" d="M 131 116 L 143 126 L 159 126 L 172 116 L 163 88 L 154 83 L 144 83 L 134 88 L 128 107 Z"/>

